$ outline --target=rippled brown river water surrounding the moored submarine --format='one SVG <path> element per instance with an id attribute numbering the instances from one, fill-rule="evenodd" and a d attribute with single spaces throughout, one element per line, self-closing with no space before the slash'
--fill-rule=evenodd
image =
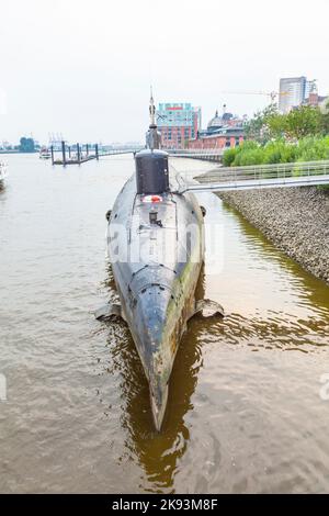
<path id="1" fill-rule="evenodd" d="M 66 169 L 4 159 L 0 492 L 328 492 L 329 288 L 200 195 L 200 289 L 226 317 L 189 323 L 157 434 L 127 327 L 92 314 L 114 295 L 105 212 L 132 156 Z"/>

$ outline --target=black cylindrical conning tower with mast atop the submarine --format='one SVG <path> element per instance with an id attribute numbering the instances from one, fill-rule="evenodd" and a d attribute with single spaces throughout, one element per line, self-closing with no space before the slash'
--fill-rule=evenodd
<path id="1" fill-rule="evenodd" d="M 146 135 L 147 149 L 135 155 L 136 184 L 138 194 L 158 194 L 169 191 L 168 153 L 160 150 L 160 135 L 156 124 L 156 106 L 150 94 L 150 125 Z"/>

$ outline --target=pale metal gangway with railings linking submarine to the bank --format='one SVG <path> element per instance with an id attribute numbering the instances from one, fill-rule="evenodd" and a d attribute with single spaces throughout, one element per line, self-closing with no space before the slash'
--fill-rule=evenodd
<path id="1" fill-rule="evenodd" d="M 329 184 L 329 160 L 222 167 L 194 178 L 184 175 L 183 181 L 180 192 Z"/>

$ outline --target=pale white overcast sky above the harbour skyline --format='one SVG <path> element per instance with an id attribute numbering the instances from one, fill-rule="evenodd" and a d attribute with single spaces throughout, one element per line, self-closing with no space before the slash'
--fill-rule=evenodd
<path id="1" fill-rule="evenodd" d="M 328 0 L 0 0 L 0 141 L 143 141 L 150 83 L 157 102 L 201 105 L 203 125 L 224 103 L 263 108 L 224 92 L 280 77 L 329 93 Z"/>

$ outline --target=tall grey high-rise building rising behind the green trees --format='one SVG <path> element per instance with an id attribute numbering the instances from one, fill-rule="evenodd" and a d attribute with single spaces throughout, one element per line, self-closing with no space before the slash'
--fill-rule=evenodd
<path id="1" fill-rule="evenodd" d="M 288 113 L 294 108 L 303 104 L 310 92 L 314 81 L 307 81 L 306 77 L 291 77 L 280 80 L 279 110 Z"/>

